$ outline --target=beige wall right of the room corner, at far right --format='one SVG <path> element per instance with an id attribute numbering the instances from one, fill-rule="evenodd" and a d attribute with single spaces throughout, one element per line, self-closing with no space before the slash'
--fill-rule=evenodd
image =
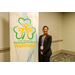
<path id="1" fill-rule="evenodd" d="M 75 12 L 63 12 L 63 50 L 75 52 Z"/>

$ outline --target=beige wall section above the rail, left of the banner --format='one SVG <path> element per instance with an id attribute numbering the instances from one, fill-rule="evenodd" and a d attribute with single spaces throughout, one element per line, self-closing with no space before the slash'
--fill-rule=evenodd
<path id="1" fill-rule="evenodd" d="M 9 47 L 8 12 L 0 12 L 0 48 Z"/>

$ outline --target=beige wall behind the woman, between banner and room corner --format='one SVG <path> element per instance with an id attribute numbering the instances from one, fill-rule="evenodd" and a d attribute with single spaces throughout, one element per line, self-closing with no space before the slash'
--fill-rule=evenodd
<path id="1" fill-rule="evenodd" d="M 62 39 L 62 13 L 61 12 L 40 12 L 39 13 L 39 35 L 42 33 L 44 25 L 49 27 L 49 34 L 52 35 L 52 40 Z M 60 28 L 60 29 L 59 29 Z M 60 36 L 59 36 L 60 34 Z M 52 43 L 52 52 L 60 50 L 62 43 Z"/>

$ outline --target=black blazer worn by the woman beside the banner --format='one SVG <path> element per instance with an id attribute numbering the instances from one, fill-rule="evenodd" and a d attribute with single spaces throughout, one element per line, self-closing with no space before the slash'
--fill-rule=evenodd
<path id="1" fill-rule="evenodd" d="M 40 53 L 40 46 L 42 43 L 42 36 L 43 35 L 41 35 L 39 37 L 39 43 L 38 43 L 39 53 Z M 44 50 L 42 52 L 43 52 L 44 56 L 51 56 L 52 55 L 51 44 L 52 44 L 52 36 L 47 34 L 44 39 L 44 43 L 43 43 Z"/>

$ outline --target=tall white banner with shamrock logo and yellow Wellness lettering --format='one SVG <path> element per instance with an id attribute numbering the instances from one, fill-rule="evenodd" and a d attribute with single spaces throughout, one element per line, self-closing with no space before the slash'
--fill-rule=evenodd
<path id="1" fill-rule="evenodd" d="M 10 12 L 10 62 L 38 62 L 38 12 Z"/>

